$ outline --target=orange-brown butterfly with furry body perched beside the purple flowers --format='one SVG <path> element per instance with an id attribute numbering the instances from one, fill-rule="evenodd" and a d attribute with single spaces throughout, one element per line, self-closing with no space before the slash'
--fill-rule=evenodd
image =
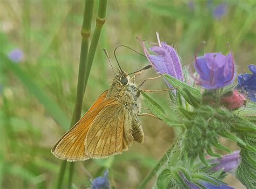
<path id="1" fill-rule="evenodd" d="M 149 68 L 151 65 L 139 71 Z M 135 76 L 129 75 L 120 68 L 110 88 L 53 146 L 51 152 L 57 158 L 107 158 L 127 151 L 133 140 L 143 143 L 144 133 L 138 119 L 140 89 Z"/>

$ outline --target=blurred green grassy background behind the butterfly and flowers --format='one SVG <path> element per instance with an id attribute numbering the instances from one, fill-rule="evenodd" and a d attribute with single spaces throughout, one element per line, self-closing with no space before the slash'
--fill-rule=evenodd
<path id="1" fill-rule="evenodd" d="M 98 1 L 95 12 L 97 5 Z M 0 0 L 0 188 L 56 186 L 61 161 L 50 150 L 68 130 L 75 104 L 83 9 L 84 1 L 80 0 Z M 247 64 L 256 62 L 255 12 L 254 0 L 109 1 L 83 114 L 113 76 L 102 49 L 108 50 L 117 69 L 112 53 L 117 45 L 143 52 L 136 36 L 155 43 L 155 32 L 159 31 L 162 41 L 175 46 L 183 65 L 192 65 L 193 53 L 203 40 L 207 44 L 201 53 L 227 53 L 229 42 L 238 73 L 247 71 Z M 6 57 L 17 49 L 23 55 L 14 64 Z M 117 56 L 127 72 L 148 64 L 145 57 L 127 49 L 118 49 Z M 157 75 L 153 70 L 144 71 L 138 83 L 151 76 Z M 164 89 L 165 84 L 157 79 L 143 88 Z M 153 96 L 176 119 L 167 93 Z M 109 159 L 77 163 L 73 188 L 90 186 L 89 179 L 105 168 L 109 168 L 116 188 L 138 186 L 174 136 L 173 130 L 157 119 L 140 120 L 144 144 L 134 142 L 129 151 Z M 65 185 L 67 178 L 68 174 Z M 232 176 L 226 181 L 243 188 Z"/>

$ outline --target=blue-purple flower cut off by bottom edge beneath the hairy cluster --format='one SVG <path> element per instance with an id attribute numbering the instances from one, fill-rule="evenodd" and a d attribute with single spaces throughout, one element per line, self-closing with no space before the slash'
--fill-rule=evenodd
<path id="1" fill-rule="evenodd" d="M 201 187 L 199 187 L 197 183 L 203 185 L 207 189 L 234 189 L 233 187 L 228 186 L 224 183 L 220 183 L 217 179 L 208 176 L 207 179 L 211 179 L 212 183 L 218 183 L 218 185 L 208 183 L 207 181 L 201 179 L 197 179 L 196 182 L 193 182 L 192 180 L 188 181 L 182 174 L 181 177 L 183 178 L 184 183 L 186 183 L 187 187 L 190 189 L 200 189 Z"/>

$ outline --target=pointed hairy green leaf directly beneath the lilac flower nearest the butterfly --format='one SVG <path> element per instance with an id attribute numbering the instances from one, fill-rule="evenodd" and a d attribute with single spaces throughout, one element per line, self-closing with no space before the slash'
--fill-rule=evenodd
<path id="1" fill-rule="evenodd" d="M 184 82 L 181 82 L 181 80 L 176 79 L 168 74 L 164 74 L 163 77 L 174 87 L 177 88 L 176 90 L 180 92 L 180 94 L 185 98 L 185 100 L 190 103 L 192 106 L 195 103 L 200 102 L 201 93 L 198 89 L 187 85 Z M 185 89 L 185 90 L 184 90 Z M 191 96 L 188 96 L 187 91 L 190 92 Z M 194 101 L 191 102 L 191 99 Z"/>

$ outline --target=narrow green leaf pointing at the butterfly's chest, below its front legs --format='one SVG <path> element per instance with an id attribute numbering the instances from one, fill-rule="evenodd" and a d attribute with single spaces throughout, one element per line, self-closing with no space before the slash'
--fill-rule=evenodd
<path id="1" fill-rule="evenodd" d="M 150 109 L 150 111 L 155 114 L 159 119 L 163 120 L 163 122 L 169 126 L 176 127 L 180 126 L 180 124 L 177 124 L 173 120 L 167 118 L 165 116 L 164 110 L 161 108 L 161 106 L 154 100 L 151 96 L 147 95 L 145 92 L 141 92 L 142 96 L 144 97 L 143 102 L 146 104 L 146 106 Z"/>

